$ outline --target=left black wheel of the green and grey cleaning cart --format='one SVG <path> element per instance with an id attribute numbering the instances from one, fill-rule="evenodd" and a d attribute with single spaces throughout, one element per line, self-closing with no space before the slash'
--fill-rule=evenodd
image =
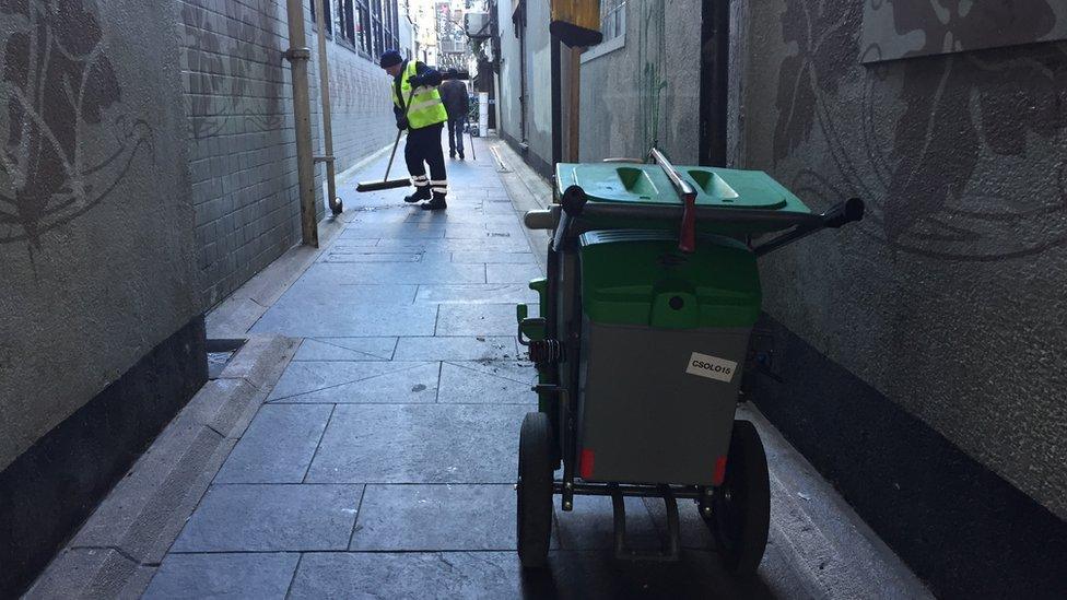
<path id="1" fill-rule="evenodd" d="M 524 568 L 543 567 L 552 534 L 552 427 L 530 412 L 518 439 L 518 556 Z"/>

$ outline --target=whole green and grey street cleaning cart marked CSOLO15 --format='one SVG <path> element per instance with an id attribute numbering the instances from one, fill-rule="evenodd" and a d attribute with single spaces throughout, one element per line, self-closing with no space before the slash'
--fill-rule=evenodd
<path id="1" fill-rule="evenodd" d="M 735 420 L 752 327 L 758 259 L 859 221 L 852 199 L 823 214 L 762 172 L 647 163 L 560 164 L 555 202 L 527 213 L 551 230 L 539 314 L 519 305 L 518 338 L 538 370 L 538 412 L 519 437 L 518 552 L 544 566 L 553 496 L 610 496 L 615 553 L 679 553 L 678 499 L 695 502 L 724 565 L 754 572 L 770 522 L 766 457 Z M 562 468 L 560 478 L 555 472 Z M 626 496 L 663 498 L 668 544 L 632 549 Z"/>

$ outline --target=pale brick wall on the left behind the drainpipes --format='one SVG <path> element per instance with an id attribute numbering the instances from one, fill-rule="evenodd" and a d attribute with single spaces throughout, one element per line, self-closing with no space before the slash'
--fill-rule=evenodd
<path id="1" fill-rule="evenodd" d="M 317 50 L 305 1 L 307 43 Z M 284 2 L 178 0 L 203 302 L 214 305 L 300 243 L 300 197 Z M 328 43 L 338 170 L 392 140 L 387 80 L 355 50 Z M 317 51 L 308 73 L 313 146 L 321 152 Z M 316 166 L 321 190 L 325 167 Z M 325 214 L 319 198 L 319 215 Z"/>

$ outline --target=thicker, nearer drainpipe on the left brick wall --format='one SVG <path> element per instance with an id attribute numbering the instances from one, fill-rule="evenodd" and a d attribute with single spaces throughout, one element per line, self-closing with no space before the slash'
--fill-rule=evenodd
<path id="1" fill-rule="evenodd" d="M 305 246 L 318 248 L 318 219 L 315 213 L 315 157 L 312 155 L 312 105 L 307 90 L 307 61 L 312 50 L 304 37 L 304 2 L 285 0 L 289 21 L 289 50 L 292 64 L 293 116 L 296 125 L 296 177 L 300 183 L 301 230 Z M 320 13 L 321 14 L 321 13 Z"/>

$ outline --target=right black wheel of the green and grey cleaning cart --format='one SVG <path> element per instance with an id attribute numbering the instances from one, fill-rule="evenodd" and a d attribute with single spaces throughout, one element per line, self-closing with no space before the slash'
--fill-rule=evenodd
<path id="1" fill-rule="evenodd" d="M 727 570 L 740 577 L 755 573 L 771 526 L 771 484 L 763 443 L 748 421 L 734 422 L 726 477 L 705 521 Z"/>

